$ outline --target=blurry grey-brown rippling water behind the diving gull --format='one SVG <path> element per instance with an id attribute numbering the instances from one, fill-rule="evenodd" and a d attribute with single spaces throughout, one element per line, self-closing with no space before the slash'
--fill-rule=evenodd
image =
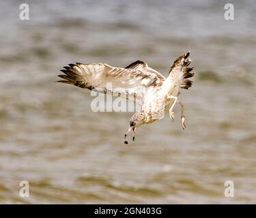
<path id="1" fill-rule="evenodd" d="M 235 20 L 224 1 L 28 0 L 30 20 L 20 3 L 0 2 L 1 203 L 256 203 L 255 1 L 228 1 Z M 187 129 L 175 106 L 130 146 L 131 112 L 92 112 L 89 91 L 54 82 L 75 62 L 140 59 L 167 76 L 188 50 Z"/>

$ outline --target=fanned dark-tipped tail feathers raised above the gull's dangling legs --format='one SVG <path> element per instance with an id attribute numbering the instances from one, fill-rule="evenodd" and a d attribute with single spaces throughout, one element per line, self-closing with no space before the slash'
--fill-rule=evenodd
<path id="1" fill-rule="evenodd" d="M 195 75 L 195 73 L 190 73 L 194 67 L 188 67 L 191 63 L 191 59 L 188 58 L 190 55 L 190 52 L 187 52 L 186 54 L 178 57 L 173 65 L 171 66 L 169 74 L 172 72 L 175 72 L 175 70 L 178 70 L 179 72 L 182 72 L 182 82 L 180 84 L 180 88 L 182 89 L 188 89 L 192 86 L 191 80 L 188 80 L 188 78 L 191 78 Z"/>

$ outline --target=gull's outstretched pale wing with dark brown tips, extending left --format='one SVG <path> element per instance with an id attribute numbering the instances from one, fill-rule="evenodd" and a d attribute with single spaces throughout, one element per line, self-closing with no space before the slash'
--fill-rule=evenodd
<path id="1" fill-rule="evenodd" d="M 106 63 L 76 63 L 63 67 L 59 75 L 66 84 L 98 91 L 119 97 L 125 97 L 136 102 L 143 98 L 143 93 L 149 87 L 158 87 L 165 78 L 147 63 L 136 61 L 126 68 L 111 67 Z"/>

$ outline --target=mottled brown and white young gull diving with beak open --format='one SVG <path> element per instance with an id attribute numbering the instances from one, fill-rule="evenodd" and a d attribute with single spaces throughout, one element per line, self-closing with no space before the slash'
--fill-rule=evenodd
<path id="1" fill-rule="evenodd" d="M 139 110 L 130 118 L 126 136 L 133 132 L 132 140 L 135 138 L 136 129 L 148 123 L 157 121 L 169 110 L 171 121 L 174 121 L 173 107 L 176 103 L 181 107 L 182 128 L 185 129 L 184 104 L 179 102 L 177 96 L 180 89 L 188 89 L 192 81 L 188 80 L 194 76 L 191 72 L 194 67 L 188 67 L 191 59 L 190 52 L 178 57 L 169 70 L 169 76 L 165 78 L 155 69 L 150 68 L 143 61 L 135 61 L 125 68 L 112 67 L 106 63 L 76 63 L 63 67 L 64 75 L 59 77 L 66 84 L 89 89 L 98 93 L 109 94 L 130 99 L 139 104 Z M 111 82 L 113 89 L 106 85 Z"/>

